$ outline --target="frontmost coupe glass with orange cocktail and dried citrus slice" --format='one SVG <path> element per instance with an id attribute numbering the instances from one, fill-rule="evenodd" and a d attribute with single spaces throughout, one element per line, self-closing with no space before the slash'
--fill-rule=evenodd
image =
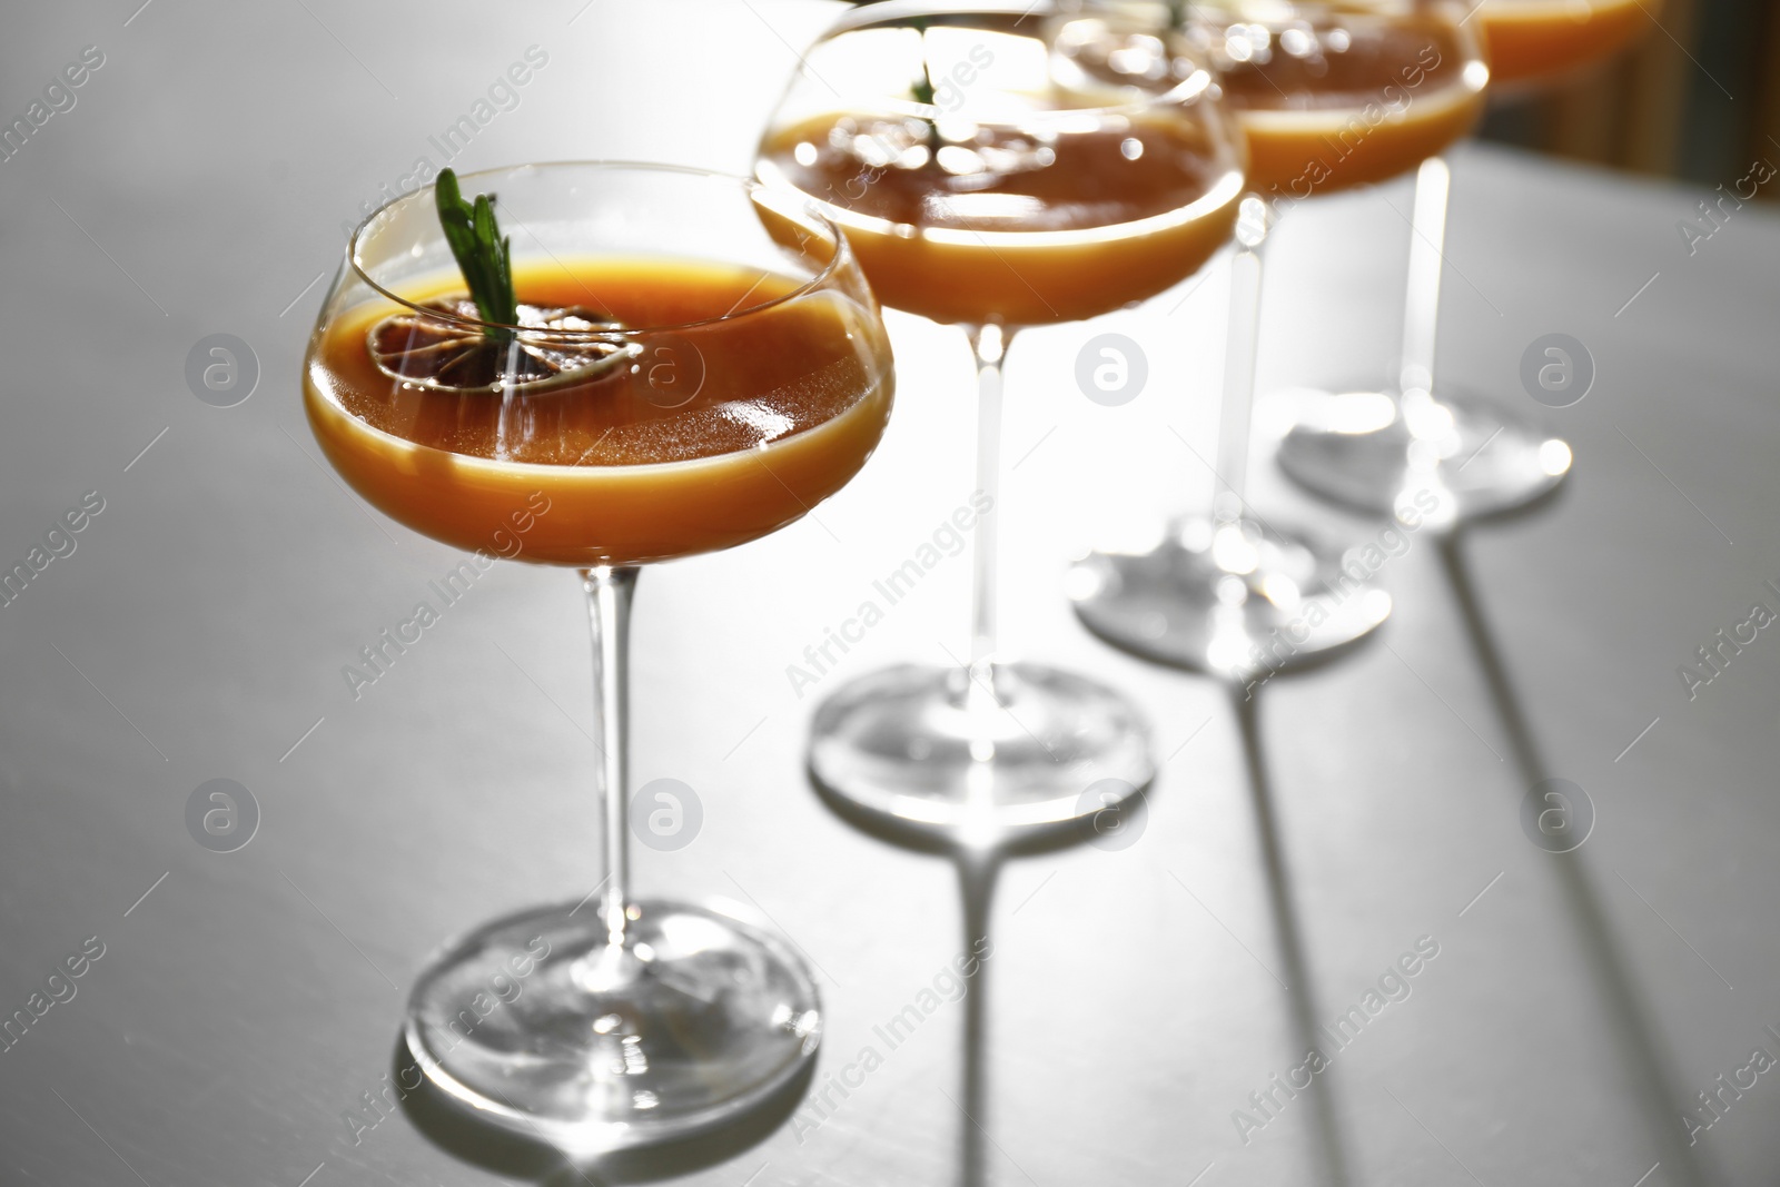
<path id="1" fill-rule="evenodd" d="M 803 959 L 758 922 L 632 892 L 632 587 L 643 564 L 765 536 L 840 489 L 883 434 L 890 347 L 846 240 L 783 192 L 625 164 L 465 185 L 497 196 L 518 320 L 465 299 L 433 189 L 399 198 L 352 237 L 304 406 L 328 461 L 400 523 L 578 569 L 605 876 L 449 941 L 413 988 L 406 1039 L 438 1087 L 532 1137 L 578 1151 L 684 1137 L 789 1084 L 821 1007 Z"/>

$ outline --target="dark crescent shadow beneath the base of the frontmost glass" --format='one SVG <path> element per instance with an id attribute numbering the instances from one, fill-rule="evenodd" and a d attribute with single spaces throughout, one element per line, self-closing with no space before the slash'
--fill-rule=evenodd
<path id="1" fill-rule="evenodd" d="M 815 1061 L 760 1107 L 721 1128 L 678 1143 L 586 1159 L 479 1121 L 425 1077 L 418 1077 L 420 1086 L 409 1089 L 408 1084 L 417 1071 L 408 1043 L 397 1036 L 392 1078 L 400 1086 L 400 1109 L 422 1137 L 454 1159 L 504 1178 L 532 1180 L 543 1187 L 618 1187 L 692 1175 L 760 1144 L 803 1103 L 815 1073 Z"/>

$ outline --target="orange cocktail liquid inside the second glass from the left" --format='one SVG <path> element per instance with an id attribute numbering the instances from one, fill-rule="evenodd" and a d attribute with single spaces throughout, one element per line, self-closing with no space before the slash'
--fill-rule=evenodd
<path id="1" fill-rule="evenodd" d="M 821 116 L 771 133 L 758 166 L 764 182 L 828 205 L 888 306 L 938 322 L 1073 322 L 1180 283 L 1230 237 L 1241 178 L 1196 123 L 1116 116 L 1048 139 L 1043 167 L 1020 167 L 1036 146 L 1016 126 L 979 126 L 958 146 L 972 158 L 915 144 L 917 164 L 862 160 L 860 139 L 901 126 Z M 999 155 L 1016 167 L 990 174 Z"/>

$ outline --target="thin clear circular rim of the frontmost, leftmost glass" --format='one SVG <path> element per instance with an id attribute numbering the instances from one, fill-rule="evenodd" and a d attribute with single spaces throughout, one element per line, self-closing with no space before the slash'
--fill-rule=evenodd
<path id="1" fill-rule="evenodd" d="M 506 176 L 506 174 L 513 174 L 513 173 L 516 173 L 520 169 L 566 169 L 566 167 L 603 169 L 603 171 L 611 171 L 611 173 L 623 171 L 623 173 L 680 174 L 680 176 L 703 178 L 703 180 L 712 180 L 712 182 L 732 182 L 742 194 L 748 194 L 751 198 L 758 198 L 758 196 L 796 198 L 792 194 L 785 194 L 783 190 L 773 189 L 773 187 L 769 187 L 769 185 L 765 185 L 765 183 L 762 183 L 762 182 L 758 182 L 755 178 L 748 178 L 748 176 L 742 176 L 742 174 L 737 174 L 737 173 L 721 173 L 721 171 L 716 171 L 716 169 L 700 169 L 696 166 L 675 166 L 675 164 L 653 162 L 653 160 L 534 160 L 534 162 L 520 162 L 520 164 L 511 164 L 511 166 L 495 166 L 495 167 L 490 167 L 490 169 L 477 169 L 473 173 L 459 173 L 457 174 L 457 182 L 459 183 L 468 183 L 468 182 L 486 180 L 486 178 L 493 178 L 493 176 Z M 805 199 L 801 214 L 806 219 L 813 221 L 817 226 L 821 226 L 833 238 L 835 251 L 828 258 L 828 263 L 824 263 L 821 269 L 817 269 L 808 279 L 805 279 L 801 285 L 797 285 L 790 292 L 780 294 L 776 297 L 769 297 L 765 301 L 760 301 L 756 304 L 749 304 L 749 306 L 740 308 L 740 310 L 730 310 L 728 313 L 721 313 L 717 317 L 703 317 L 703 319 L 696 319 L 696 320 L 691 320 L 691 322 L 676 322 L 676 324 L 662 324 L 662 326 L 611 326 L 611 327 L 596 327 L 596 329 L 552 329 L 548 326 L 509 326 L 506 322 L 488 322 L 488 320 L 482 320 L 479 317 L 463 317 L 459 313 L 450 313 L 447 310 L 425 308 L 422 304 L 417 304 L 415 301 L 409 301 L 408 297 L 404 297 L 404 295 L 400 295 L 397 292 L 392 292 L 390 288 L 384 288 L 376 279 L 372 279 L 370 272 L 365 271 L 365 265 L 360 260 L 360 244 L 365 238 L 367 231 L 372 230 L 372 224 L 383 221 L 384 215 L 388 215 L 395 206 L 399 206 L 402 203 L 408 203 L 408 201 L 420 201 L 424 196 L 436 192 L 436 189 L 438 189 L 438 180 L 429 182 L 429 183 L 425 183 L 425 185 L 422 185 L 418 189 L 408 190 L 406 194 L 397 194 L 395 198 L 392 198 L 390 201 L 383 203 L 381 206 L 377 206 L 376 210 L 372 210 L 368 215 L 365 215 L 365 219 L 356 228 L 352 228 L 352 237 L 345 244 L 345 263 L 347 263 L 347 267 L 352 271 L 354 276 L 358 276 L 358 279 L 365 281 L 365 285 L 368 285 L 372 292 L 376 292 L 377 295 L 381 295 L 381 297 L 384 297 L 388 301 L 393 301 L 395 304 L 399 304 L 404 310 L 409 310 L 409 311 L 413 311 L 413 313 L 417 313 L 420 317 L 425 317 L 425 319 L 436 320 L 436 322 L 445 322 L 445 324 L 450 324 L 450 326 L 463 326 L 463 327 L 468 327 L 468 329 L 479 329 L 479 331 L 506 329 L 506 331 L 513 331 L 513 335 L 518 340 L 522 340 L 522 342 L 530 342 L 530 340 L 545 340 L 545 342 L 614 342 L 614 340 L 619 340 L 619 342 L 623 342 L 623 340 L 630 340 L 630 338 L 643 338 L 643 336 L 650 336 L 650 335 L 666 335 L 666 333 L 676 333 L 676 331 L 684 331 L 684 329 L 698 329 L 701 326 L 714 326 L 714 324 L 719 324 L 719 322 L 740 320 L 744 317 L 751 317 L 755 313 L 762 313 L 765 310 L 773 310 L 773 308 L 776 308 L 780 304 L 785 304 L 789 301 L 796 301 L 797 297 L 801 297 L 801 295 L 805 295 L 808 292 L 813 292 L 815 288 L 826 285 L 835 276 L 835 272 L 838 272 L 840 267 L 846 262 L 851 262 L 851 258 L 853 258 L 853 247 L 847 244 L 847 237 L 846 237 L 846 233 L 842 233 L 840 224 L 835 222 L 833 219 L 829 219 L 813 199 Z M 468 190 L 470 187 L 465 185 L 465 189 Z M 497 212 L 497 215 L 498 215 L 498 212 Z M 440 238 L 443 238 L 443 230 L 440 231 Z M 548 249 L 545 249 L 545 251 L 548 254 Z"/>

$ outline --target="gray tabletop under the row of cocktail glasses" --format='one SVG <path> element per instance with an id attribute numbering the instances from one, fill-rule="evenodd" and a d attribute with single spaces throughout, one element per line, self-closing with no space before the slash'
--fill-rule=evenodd
<path id="1" fill-rule="evenodd" d="M 0 117 L 41 114 L 0 160 L 0 568 L 32 566 L 0 605 L 0 1182 L 580 1182 L 365 1100 L 440 940 L 598 879 L 578 589 L 498 566 L 354 699 L 342 667 L 456 557 L 320 463 L 299 358 L 342 224 L 420 158 L 746 169 L 831 9 L 137 2 L 32 7 L 0 39 Z M 497 85 L 514 62 L 525 85 Z M 879 456 L 803 523 L 648 573 L 635 623 L 635 778 L 703 810 L 685 847 L 639 847 L 637 883 L 749 904 L 817 965 L 812 1094 L 589 1178 L 1773 1182 L 1780 641 L 1750 623 L 1780 610 L 1780 224 L 1744 206 L 1689 253 L 1702 198 L 1458 155 L 1442 377 L 1547 415 L 1575 477 L 1536 516 L 1408 536 L 1378 646 L 1258 698 L 1262 783 L 1216 683 L 1104 650 L 1061 593 L 1088 541 L 1210 489 L 1221 269 L 1022 336 L 1007 644 L 1129 690 L 1166 771 L 1127 847 L 988 872 L 854 829 L 803 776 L 819 694 L 967 632 L 947 557 L 838 671 L 801 696 L 787 674 L 972 488 L 965 347 L 894 317 Z M 1406 210 L 1399 183 L 1287 217 L 1269 390 L 1385 372 Z M 1070 381 L 1107 331 L 1148 359 L 1123 408 Z M 1549 333 L 1595 379 L 1547 413 L 1518 372 Z M 233 408 L 187 381 L 212 335 L 251 352 L 233 395 L 256 363 Z M 1267 464 L 1253 493 L 1378 539 Z M 1575 852 L 1524 828 L 1547 776 L 1591 804 Z M 256 806 L 233 852 L 187 826 L 210 779 Z M 959 997 L 945 970 L 984 927 Z M 911 1004 L 892 1048 L 874 1027 Z M 1290 1089 L 1312 1041 L 1328 1068 Z"/>

